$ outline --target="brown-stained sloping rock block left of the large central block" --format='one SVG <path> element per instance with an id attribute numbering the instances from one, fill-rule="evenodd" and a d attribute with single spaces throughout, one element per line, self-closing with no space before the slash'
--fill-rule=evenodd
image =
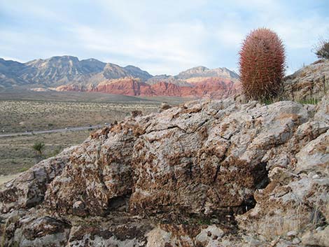
<path id="1" fill-rule="evenodd" d="M 134 120 L 90 136 L 72 153 L 62 176 L 45 193 L 45 205 L 62 213 L 106 214 L 120 197 L 131 194 L 132 150 L 137 133 Z M 68 197 L 68 195 L 70 195 Z M 81 209 L 82 208 L 82 209 Z"/>

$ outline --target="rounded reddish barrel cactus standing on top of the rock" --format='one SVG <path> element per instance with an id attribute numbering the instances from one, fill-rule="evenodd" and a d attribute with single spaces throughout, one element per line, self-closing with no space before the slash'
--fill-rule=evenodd
<path id="1" fill-rule="evenodd" d="M 285 54 L 279 36 L 267 28 L 251 31 L 239 52 L 239 72 L 248 99 L 269 99 L 281 90 Z"/>

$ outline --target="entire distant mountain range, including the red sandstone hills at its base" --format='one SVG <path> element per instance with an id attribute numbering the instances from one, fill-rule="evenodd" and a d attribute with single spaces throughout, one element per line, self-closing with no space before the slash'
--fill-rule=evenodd
<path id="1" fill-rule="evenodd" d="M 35 91 L 106 92 L 132 96 L 223 98 L 240 90 L 239 76 L 226 68 L 197 66 L 176 76 L 152 76 L 137 66 L 125 67 L 72 56 L 20 63 L 0 58 L 1 88 Z"/>

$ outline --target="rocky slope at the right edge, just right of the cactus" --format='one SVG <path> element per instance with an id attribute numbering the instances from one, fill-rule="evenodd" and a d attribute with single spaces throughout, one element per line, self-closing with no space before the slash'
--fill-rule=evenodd
<path id="1" fill-rule="evenodd" d="M 329 92 L 329 61 L 318 60 L 304 66 L 283 83 L 286 99 L 297 101 L 319 101 Z"/>

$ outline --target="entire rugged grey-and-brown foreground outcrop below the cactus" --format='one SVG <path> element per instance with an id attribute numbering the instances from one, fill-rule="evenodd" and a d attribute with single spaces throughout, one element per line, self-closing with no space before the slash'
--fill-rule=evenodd
<path id="1" fill-rule="evenodd" d="M 94 132 L 1 189 L 3 246 L 325 246 L 328 99 L 204 99 Z"/>

